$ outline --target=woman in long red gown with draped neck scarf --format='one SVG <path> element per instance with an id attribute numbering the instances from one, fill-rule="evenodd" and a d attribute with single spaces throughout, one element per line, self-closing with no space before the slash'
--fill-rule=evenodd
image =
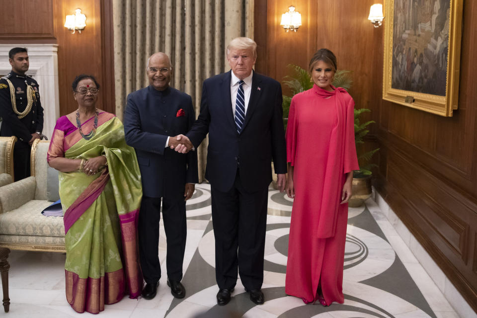
<path id="1" fill-rule="evenodd" d="M 336 57 L 310 61 L 313 88 L 293 96 L 288 116 L 287 194 L 294 198 L 285 292 L 324 306 L 343 303 L 343 261 L 353 170 L 354 101 L 331 85 Z"/>

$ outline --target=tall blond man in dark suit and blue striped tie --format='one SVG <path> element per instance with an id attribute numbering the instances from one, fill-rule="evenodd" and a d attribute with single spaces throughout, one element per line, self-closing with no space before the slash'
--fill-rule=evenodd
<path id="1" fill-rule="evenodd" d="M 282 89 L 253 72 L 256 43 L 236 38 L 227 47 L 231 71 L 206 79 L 200 115 L 175 150 L 197 148 L 209 133 L 206 178 L 212 190 L 217 303 L 226 305 L 237 270 L 250 300 L 263 304 L 263 255 L 271 161 L 285 187 L 287 159 Z"/>

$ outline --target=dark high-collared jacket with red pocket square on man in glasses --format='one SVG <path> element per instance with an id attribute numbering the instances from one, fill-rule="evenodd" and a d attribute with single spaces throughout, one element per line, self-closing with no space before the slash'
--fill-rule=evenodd
<path id="1" fill-rule="evenodd" d="M 179 109 L 184 116 L 177 117 Z M 138 156 L 145 196 L 183 199 L 185 183 L 198 182 L 197 153 L 164 148 L 167 136 L 187 133 L 194 120 L 192 98 L 175 88 L 148 86 L 128 95 L 124 132 Z"/>

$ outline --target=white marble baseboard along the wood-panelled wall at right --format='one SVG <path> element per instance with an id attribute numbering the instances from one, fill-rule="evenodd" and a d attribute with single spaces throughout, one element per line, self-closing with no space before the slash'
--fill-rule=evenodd
<path id="1" fill-rule="evenodd" d="M 459 317 L 476 318 L 477 314 L 472 310 L 471 306 L 469 306 L 464 297 L 462 297 L 424 247 L 422 247 L 417 239 L 409 232 L 407 227 L 402 223 L 399 217 L 397 217 L 396 213 L 394 213 L 393 209 L 391 209 L 388 203 L 375 189 L 373 189 L 373 192 L 376 193 L 375 201 L 382 213 L 388 218 L 397 234 L 399 234 L 404 243 L 409 247 L 412 254 L 414 254 L 415 258 L 432 278 L 442 294 L 444 294 L 456 313 L 459 314 Z"/>

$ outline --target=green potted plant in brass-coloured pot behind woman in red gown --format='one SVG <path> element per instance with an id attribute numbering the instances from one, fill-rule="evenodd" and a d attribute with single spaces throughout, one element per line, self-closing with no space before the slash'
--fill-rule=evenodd
<path id="1" fill-rule="evenodd" d="M 310 79 L 310 74 L 307 70 L 293 64 L 288 65 L 288 68 L 292 71 L 292 75 L 286 76 L 283 80 L 283 84 L 291 90 L 291 96 L 283 95 L 282 107 L 285 129 L 292 97 L 313 87 L 313 81 Z M 348 90 L 352 83 L 351 71 L 338 70 L 334 74 L 333 86 L 343 87 Z M 361 123 L 360 115 L 364 112 L 371 112 L 371 110 L 367 108 L 354 109 L 354 137 L 357 149 L 359 149 L 358 145 L 364 144 L 364 137 L 369 132 L 368 126 L 374 123 L 373 120 Z M 376 164 L 369 163 L 369 160 L 378 150 L 379 148 L 364 153 L 358 152 L 360 169 L 353 172 L 353 196 L 349 201 L 349 206 L 351 207 L 360 206 L 364 200 L 371 196 L 371 168 L 376 166 Z"/>

